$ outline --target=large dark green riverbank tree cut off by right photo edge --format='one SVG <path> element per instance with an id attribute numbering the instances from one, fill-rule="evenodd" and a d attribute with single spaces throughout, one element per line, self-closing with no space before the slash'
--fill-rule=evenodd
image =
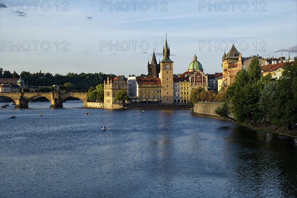
<path id="1" fill-rule="evenodd" d="M 284 67 L 271 106 L 273 108 L 268 117 L 272 124 L 286 127 L 287 130 L 292 129 L 297 123 L 297 59 L 293 66 L 287 63 Z"/>

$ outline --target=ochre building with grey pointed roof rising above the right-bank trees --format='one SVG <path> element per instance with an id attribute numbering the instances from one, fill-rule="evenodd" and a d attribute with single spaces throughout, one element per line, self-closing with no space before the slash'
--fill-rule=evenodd
<path id="1" fill-rule="evenodd" d="M 243 68 L 242 55 L 237 51 L 234 45 L 231 47 L 227 55 L 224 53 L 222 57 L 222 68 L 222 81 L 228 86 L 234 82 L 236 73 Z"/>

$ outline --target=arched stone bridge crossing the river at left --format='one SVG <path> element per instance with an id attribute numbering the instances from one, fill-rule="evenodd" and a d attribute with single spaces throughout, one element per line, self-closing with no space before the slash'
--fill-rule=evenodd
<path id="1" fill-rule="evenodd" d="M 45 97 L 50 102 L 51 108 L 61 108 L 63 107 L 63 101 L 67 98 L 73 97 L 78 98 L 84 103 L 84 107 L 87 107 L 88 93 L 38 93 L 38 92 L 28 92 L 28 93 L 0 93 L 0 96 L 6 96 L 11 98 L 15 102 L 16 108 L 27 108 L 28 103 L 33 98 Z"/>

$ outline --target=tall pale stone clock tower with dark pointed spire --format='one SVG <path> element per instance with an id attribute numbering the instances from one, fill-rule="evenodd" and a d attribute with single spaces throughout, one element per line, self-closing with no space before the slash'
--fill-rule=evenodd
<path id="1" fill-rule="evenodd" d="M 162 83 L 162 103 L 173 103 L 173 61 L 170 60 L 170 48 L 163 47 L 163 60 L 160 62 L 160 80 Z"/>

